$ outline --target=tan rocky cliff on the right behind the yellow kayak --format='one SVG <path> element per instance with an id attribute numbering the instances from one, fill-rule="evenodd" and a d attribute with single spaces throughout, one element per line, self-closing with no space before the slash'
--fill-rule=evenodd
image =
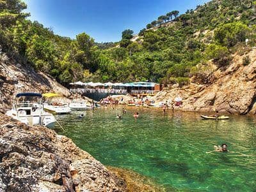
<path id="1" fill-rule="evenodd" d="M 212 72 L 212 83 L 190 83 L 182 88 L 173 85 L 159 92 L 156 102 L 173 101 L 180 97 L 183 104 L 175 108 L 184 111 L 219 110 L 230 114 L 256 114 L 256 50 L 232 56 L 226 68 L 216 67 Z M 243 58 L 246 56 L 250 62 L 244 66 Z"/>

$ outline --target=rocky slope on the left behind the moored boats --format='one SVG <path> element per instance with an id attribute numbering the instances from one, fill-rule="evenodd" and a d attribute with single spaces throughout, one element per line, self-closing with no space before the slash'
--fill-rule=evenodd
<path id="1" fill-rule="evenodd" d="M 17 92 L 54 91 L 69 96 L 68 89 L 42 72 L 36 72 L 31 66 L 19 64 L 5 54 L 0 54 L 0 108 L 10 107 Z"/>

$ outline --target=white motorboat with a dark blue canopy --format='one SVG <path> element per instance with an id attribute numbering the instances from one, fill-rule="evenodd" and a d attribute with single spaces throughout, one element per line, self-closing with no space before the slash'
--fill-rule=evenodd
<path id="1" fill-rule="evenodd" d="M 20 101 L 20 98 L 23 100 Z M 26 98 L 39 98 L 37 102 L 25 101 Z M 56 122 L 55 117 L 44 111 L 42 105 L 42 94 L 35 92 L 22 92 L 16 94 L 13 101 L 12 110 L 8 110 L 6 115 L 20 122 L 29 125 L 42 125 L 53 128 Z"/>

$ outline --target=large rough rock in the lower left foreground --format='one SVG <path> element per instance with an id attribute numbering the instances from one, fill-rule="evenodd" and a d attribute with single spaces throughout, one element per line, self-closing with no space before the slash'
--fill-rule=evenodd
<path id="1" fill-rule="evenodd" d="M 0 191 L 126 191 L 67 137 L 0 115 Z"/>

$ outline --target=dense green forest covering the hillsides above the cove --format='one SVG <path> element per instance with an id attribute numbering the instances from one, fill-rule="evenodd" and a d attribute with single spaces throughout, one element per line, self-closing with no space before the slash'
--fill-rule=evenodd
<path id="1" fill-rule="evenodd" d="M 64 85 L 77 80 L 183 85 L 193 76 L 205 83 L 208 61 L 225 67 L 234 52 L 246 48 L 246 39 L 249 46 L 256 43 L 256 1 L 251 0 L 213 0 L 182 15 L 170 10 L 137 36 L 125 30 L 115 43 L 96 43 L 86 33 L 75 40 L 61 37 L 28 16 L 22 1 L 0 0 L 0 61 L 29 64 Z"/>

